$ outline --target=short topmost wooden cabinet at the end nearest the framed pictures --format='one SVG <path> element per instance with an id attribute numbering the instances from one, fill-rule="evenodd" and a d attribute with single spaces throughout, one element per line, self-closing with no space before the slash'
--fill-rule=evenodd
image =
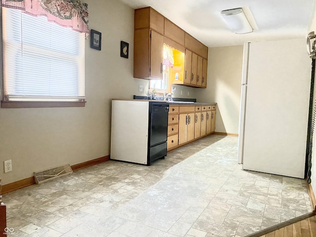
<path id="1" fill-rule="evenodd" d="M 151 28 L 158 33 L 164 33 L 164 17 L 151 7 L 135 9 L 134 30 Z"/>

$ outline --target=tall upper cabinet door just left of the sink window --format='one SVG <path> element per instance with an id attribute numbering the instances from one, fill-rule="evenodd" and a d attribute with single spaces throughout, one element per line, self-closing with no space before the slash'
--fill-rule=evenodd
<path id="1" fill-rule="evenodd" d="M 150 75 L 162 79 L 163 36 L 151 31 Z"/>

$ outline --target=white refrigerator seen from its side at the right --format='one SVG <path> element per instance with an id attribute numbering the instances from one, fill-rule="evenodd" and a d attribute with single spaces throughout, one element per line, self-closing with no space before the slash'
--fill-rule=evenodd
<path id="1" fill-rule="evenodd" d="M 311 63 L 306 40 L 244 44 L 238 163 L 304 178 Z"/>

